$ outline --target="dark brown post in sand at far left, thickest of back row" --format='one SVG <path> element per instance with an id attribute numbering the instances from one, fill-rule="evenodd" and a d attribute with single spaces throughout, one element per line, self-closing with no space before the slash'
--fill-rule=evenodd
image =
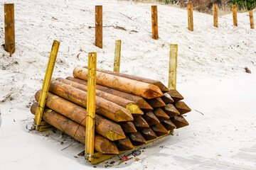
<path id="1" fill-rule="evenodd" d="M 10 55 L 15 52 L 14 4 L 4 4 L 5 50 Z"/>

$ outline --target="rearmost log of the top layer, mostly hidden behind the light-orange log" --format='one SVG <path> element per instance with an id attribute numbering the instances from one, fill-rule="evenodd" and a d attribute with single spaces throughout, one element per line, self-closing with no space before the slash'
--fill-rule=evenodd
<path id="1" fill-rule="evenodd" d="M 87 68 L 87 67 L 84 67 L 84 68 Z M 124 78 L 127 78 L 127 79 L 142 81 L 142 82 L 148 83 L 148 84 L 154 84 L 155 86 L 158 86 L 159 89 L 161 89 L 161 91 L 163 93 L 166 93 L 166 92 L 169 91 L 169 89 L 166 86 L 164 86 L 164 84 L 162 84 L 161 81 L 158 81 L 158 80 L 146 79 L 146 78 L 143 78 L 143 77 L 137 77 L 137 76 L 124 74 L 124 73 L 119 73 L 119 72 L 111 72 L 111 71 L 108 71 L 108 70 L 105 70 L 105 69 L 97 69 L 97 71 L 98 72 L 105 72 L 107 74 L 112 74 L 112 75 L 115 75 L 115 76 L 118 76 L 118 77 L 124 77 Z"/>

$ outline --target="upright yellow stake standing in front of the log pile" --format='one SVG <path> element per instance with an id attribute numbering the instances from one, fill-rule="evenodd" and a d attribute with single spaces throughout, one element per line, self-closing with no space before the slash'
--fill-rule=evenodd
<path id="1" fill-rule="evenodd" d="M 87 90 L 87 117 L 85 130 L 85 154 L 94 154 L 95 145 L 95 96 L 96 96 L 96 64 L 97 53 L 90 52 L 88 59 L 88 90 Z M 86 157 L 92 162 L 92 157 Z"/>

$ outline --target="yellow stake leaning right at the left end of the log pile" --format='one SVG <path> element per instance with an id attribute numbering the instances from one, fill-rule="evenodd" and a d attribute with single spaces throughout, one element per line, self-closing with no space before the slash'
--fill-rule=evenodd
<path id="1" fill-rule="evenodd" d="M 44 126 L 44 125 L 42 125 L 41 120 L 42 120 L 42 116 L 43 116 L 43 110 L 46 105 L 46 97 L 47 97 L 49 86 L 50 86 L 50 80 L 53 75 L 53 69 L 54 69 L 54 65 L 55 65 L 55 61 L 57 58 L 59 47 L 60 47 L 60 42 L 54 40 L 52 49 L 50 51 L 50 58 L 49 58 L 48 66 L 46 69 L 46 75 L 43 80 L 42 92 L 41 92 L 41 95 L 40 95 L 40 98 L 38 101 L 38 107 L 36 108 L 36 115 L 35 115 L 34 123 L 36 126 L 36 130 L 39 130 L 39 131 L 41 130 L 41 126 Z"/>

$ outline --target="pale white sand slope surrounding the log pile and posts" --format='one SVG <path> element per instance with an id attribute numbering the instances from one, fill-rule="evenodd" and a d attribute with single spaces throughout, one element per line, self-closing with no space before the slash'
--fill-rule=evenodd
<path id="1" fill-rule="evenodd" d="M 8 1 L 6 1 L 8 2 Z M 187 29 L 187 11 L 158 5 L 159 40 L 151 39 L 151 4 L 132 1 L 11 1 L 16 11 L 16 53 L 0 50 L 0 164 L 3 169 L 82 169 L 92 167 L 75 158 L 83 145 L 61 133 L 28 132 L 33 95 L 41 88 L 53 40 L 60 40 L 54 77 L 67 77 L 97 52 L 97 67 L 112 69 L 114 40 L 122 40 L 121 72 L 159 79 L 167 84 L 169 43 L 178 43 L 178 90 L 193 109 L 191 125 L 176 130 L 146 149 L 127 169 L 255 169 L 256 34 L 248 13 L 219 18 L 194 12 L 194 30 Z M 4 2 L 0 2 L 3 6 Z M 103 5 L 103 49 L 93 45 L 94 6 Z M 4 13 L 0 8 L 0 13 Z M 254 12 L 255 16 L 256 13 Z M 0 17 L 0 23 L 4 18 Z M 137 32 L 135 33 L 134 30 Z M 4 24 L 0 27 L 4 44 Z M 79 57 L 77 57 L 77 55 Z M 252 74 L 245 73 L 249 67 Z M 201 113 L 198 113 L 200 111 Z M 49 135 L 50 134 L 50 135 Z M 44 136 L 43 136 L 44 135 Z M 64 141 L 65 140 L 65 141 Z M 60 142 L 64 141 L 64 145 Z M 160 147 L 161 146 L 161 147 Z M 38 157 L 36 157 L 38 155 Z M 113 160 L 116 160 L 114 158 Z M 97 165 L 104 167 L 104 163 Z M 117 166 L 114 166 L 117 167 Z M 119 167 L 119 166 L 118 166 Z"/>

